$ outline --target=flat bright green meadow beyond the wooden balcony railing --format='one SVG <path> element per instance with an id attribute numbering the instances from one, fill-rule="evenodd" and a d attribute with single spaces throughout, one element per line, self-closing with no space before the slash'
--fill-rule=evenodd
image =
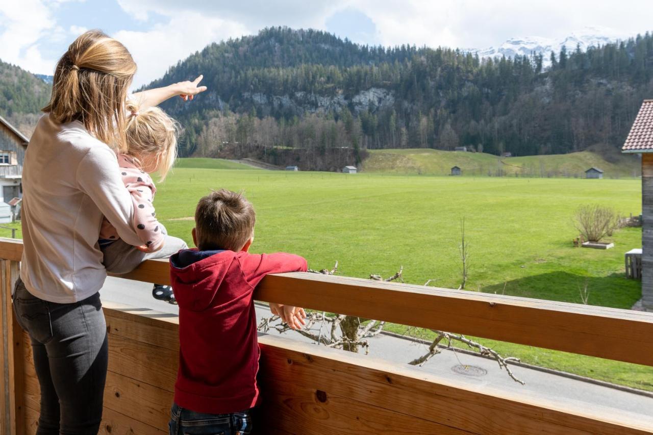
<path id="1" fill-rule="evenodd" d="M 408 283 L 458 288 L 464 217 L 469 291 L 581 303 L 586 285 L 588 304 L 626 309 L 641 297 L 640 282 L 624 277 L 624 252 L 641 247 L 641 229 L 617 231 L 616 248 L 607 251 L 572 244 L 573 215 L 582 204 L 639 214 L 638 180 L 285 172 L 181 159 L 158 185 L 157 216 L 191 244 L 195 204 L 221 187 L 244 191 L 253 202 L 253 251 L 298 253 L 311 268 L 338 261 L 343 276 L 368 278 L 404 266 Z M 406 332 L 401 325 L 388 328 Z M 653 391 L 650 367 L 481 341 L 524 362 Z"/>

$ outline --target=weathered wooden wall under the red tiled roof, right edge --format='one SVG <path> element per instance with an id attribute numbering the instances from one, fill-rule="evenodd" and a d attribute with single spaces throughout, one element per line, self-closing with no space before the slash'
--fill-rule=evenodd
<path id="1" fill-rule="evenodd" d="M 642 305 L 653 311 L 653 153 L 642 153 Z"/>

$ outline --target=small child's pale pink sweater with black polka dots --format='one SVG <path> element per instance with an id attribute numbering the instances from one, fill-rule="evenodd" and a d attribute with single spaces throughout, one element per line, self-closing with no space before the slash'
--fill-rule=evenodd
<path id="1" fill-rule="evenodd" d="M 163 244 L 165 229 L 156 218 L 152 202 L 157 188 L 150 175 L 143 172 L 129 155 L 118 154 L 118 166 L 123 183 L 134 202 L 134 228 L 144 245 L 157 248 Z M 105 218 L 100 230 L 100 238 L 118 240 L 118 232 Z"/>

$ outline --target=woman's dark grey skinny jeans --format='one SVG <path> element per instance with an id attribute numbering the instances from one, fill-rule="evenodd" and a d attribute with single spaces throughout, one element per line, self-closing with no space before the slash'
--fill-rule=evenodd
<path id="1" fill-rule="evenodd" d="M 19 279 L 12 298 L 39 378 L 37 435 L 97 435 L 108 361 L 99 293 L 56 304 L 31 295 Z"/>

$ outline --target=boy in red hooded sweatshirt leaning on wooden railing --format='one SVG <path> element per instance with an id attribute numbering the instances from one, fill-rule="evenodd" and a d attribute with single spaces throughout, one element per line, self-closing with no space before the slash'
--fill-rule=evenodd
<path id="1" fill-rule="evenodd" d="M 255 214 L 240 194 L 221 189 L 200 199 L 193 242 L 197 249 L 170 257 L 179 304 L 180 361 L 170 435 L 247 434 L 259 391 L 254 287 L 266 274 L 305 272 L 306 260 L 287 253 L 250 254 Z M 291 328 L 304 310 L 270 304 Z"/>

